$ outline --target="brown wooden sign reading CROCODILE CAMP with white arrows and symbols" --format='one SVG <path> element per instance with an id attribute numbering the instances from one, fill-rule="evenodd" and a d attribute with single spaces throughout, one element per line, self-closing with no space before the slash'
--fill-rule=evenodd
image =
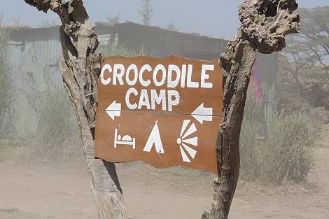
<path id="1" fill-rule="evenodd" d="M 223 118 L 218 60 L 104 57 L 98 92 L 96 157 L 217 174 Z"/>

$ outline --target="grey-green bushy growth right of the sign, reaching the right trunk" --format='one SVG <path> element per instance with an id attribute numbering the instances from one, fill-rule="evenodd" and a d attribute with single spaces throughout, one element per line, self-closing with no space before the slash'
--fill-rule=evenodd
<path id="1" fill-rule="evenodd" d="M 260 104 L 249 92 L 241 128 L 241 178 L 267 185 L 306 181 L 313 167 L 317 127 L 303 113 L 282 111 L 265 134 L 265 126 L 256 120 L 259 112 Z"/>

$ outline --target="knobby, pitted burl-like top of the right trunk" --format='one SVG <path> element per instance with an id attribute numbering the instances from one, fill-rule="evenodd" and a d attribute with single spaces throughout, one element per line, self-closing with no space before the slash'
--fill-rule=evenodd
<path id="1" fill-rule="evenodd" d="M 281 51 L 285 36 L 300 29 L 295 0 L 246 0 L 239 6 L 240 31 L 261 53 Z"/>

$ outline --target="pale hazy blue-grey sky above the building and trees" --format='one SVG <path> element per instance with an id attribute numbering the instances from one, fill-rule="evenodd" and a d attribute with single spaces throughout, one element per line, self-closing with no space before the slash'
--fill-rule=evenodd
<path id="1" fill-rule="evenodd" d="M 3 1 L 3 0 L 2 0 Z M 239 20 L 237 6 L 242 0 L 153 0 L 152 24 L 166 27 L 170 22 L 181 31 L 196 32 L 207 36 L 234 36 Z M 141 22 L 138 13 L 140 0 L 84 0 L 92 22 L 106 21 L 108 16 L 120 14 L 120 21 Z M 301 8 L 328 6 L 329 0 L 299 0 Z M 41 13 L 23 0 L 1 2 L 3 23 L 37 27 L 45 22 L 59 20 L 54 13 Z M 5 9 L 6 8 L 6 9 Z"/>

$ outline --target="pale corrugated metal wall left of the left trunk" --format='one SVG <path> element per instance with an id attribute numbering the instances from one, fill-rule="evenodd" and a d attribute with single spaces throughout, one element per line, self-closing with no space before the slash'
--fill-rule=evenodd
<path id="1" fill-rule="evenodd" d="M 15 103 L 18 134 L 36 131 L 36 103 L 42 92 L 62 89 L 59 61 L 62 47 L 57 28 L 13 29 L 9 50 L 13 80 L 18 89 Z M 48 82 L 48 83 L 47 83 Z"/>

